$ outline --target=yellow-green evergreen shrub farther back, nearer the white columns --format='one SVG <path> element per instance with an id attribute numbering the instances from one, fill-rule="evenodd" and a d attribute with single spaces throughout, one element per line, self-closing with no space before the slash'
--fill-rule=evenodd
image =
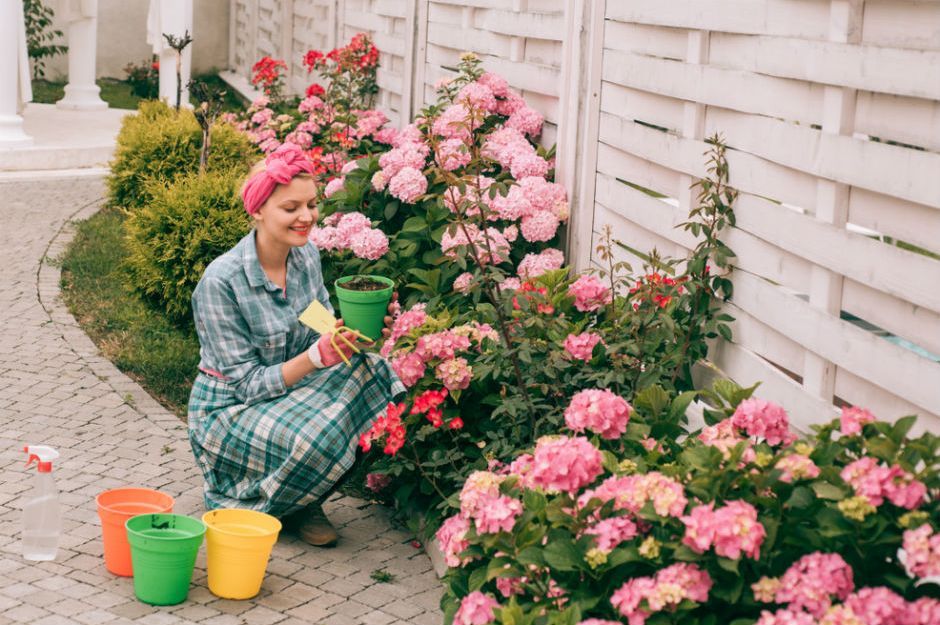
<path id="1" fill-rule="evenodd" d="M 141 102 L 137 115 L 124 118 L 108 177 L 112 206 L 139 209 L 152 197 L 153 179 L 164 186 L 199 169 L 202 129 L 191 111 L 179 113 L 163 102 Z M 210 170 L 245 173 L 260 154 L 243 133 L 227 124 L 212 129 Z"/>

